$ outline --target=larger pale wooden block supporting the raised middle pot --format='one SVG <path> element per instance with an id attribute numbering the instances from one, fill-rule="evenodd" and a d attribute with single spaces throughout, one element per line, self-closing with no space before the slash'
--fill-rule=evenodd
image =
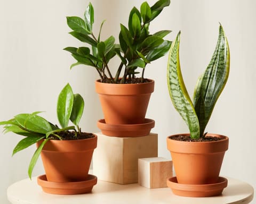
<path id="1" fill-rule="evenodd" d="M 138 158 L 157 157 L 157 134 L 137 138 L 98 135 L 93 153 L 93 174 L 99 180 L 129 184 L 138 182 Z"/>

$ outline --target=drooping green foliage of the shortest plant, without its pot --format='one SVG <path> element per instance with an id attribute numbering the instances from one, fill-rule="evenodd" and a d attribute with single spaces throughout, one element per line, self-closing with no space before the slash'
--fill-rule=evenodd
<path id="1" fill-rule="evenodd" d="M 73 94 L 72 88 L 67 84 L 60 92 L 57 104 L 57 115 L 61 128 L 39 116 L 38 114 L 41 112 L 22 113 L 14 116 L 9 121 L 0 122 L 0 125 L 4 125 L 4 133 L 13 132 L 25 137 L 13 149 L 12 155 L 44 139 L 31 158 L 28 167 L 30 179 L 40 152 L 47 141 L 75 140 L 82 137 L 81 128 L 79 128 L 78 124 L 83 114 L 83 109 L 84 100 L 82 96 Z M 68 126 L 69 121 L 74 125 Z"/>

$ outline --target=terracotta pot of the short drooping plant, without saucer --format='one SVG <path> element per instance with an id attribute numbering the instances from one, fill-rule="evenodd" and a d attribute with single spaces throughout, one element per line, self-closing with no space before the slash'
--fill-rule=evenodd
<path id="1" fill-rule="evenodd" d="M 97 139 L 94 135 L 84 140 L 49 140 L 41 151 L 47 181 L 85 181 Z M 42 142 L 37 142 L 37 147 Z"/>

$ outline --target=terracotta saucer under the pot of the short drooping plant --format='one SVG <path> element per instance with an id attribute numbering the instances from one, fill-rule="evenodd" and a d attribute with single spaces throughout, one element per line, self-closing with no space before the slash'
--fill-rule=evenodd
<path id="1" fill-rule="evenodd" d="M 37 177 L 37 183 L 40 185 L 44 192 L 59 195 L 73 195 L 73 194 L 83 194 L 90 193 L 95 184 L 97 184 L 97 177 L 88 174 L 85 181 L 78 182 L 49 182 L 46 179 L 46 175 L 41 175 Z"/>

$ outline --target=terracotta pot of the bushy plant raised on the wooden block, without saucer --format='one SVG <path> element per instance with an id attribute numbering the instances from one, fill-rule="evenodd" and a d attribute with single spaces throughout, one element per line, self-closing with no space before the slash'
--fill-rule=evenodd
<path id="1" fill-rule="evenodd" d="M 145 121 L 153 80 L 139 84 L 95 82 L 107 124 L 141 124 Z"/>

